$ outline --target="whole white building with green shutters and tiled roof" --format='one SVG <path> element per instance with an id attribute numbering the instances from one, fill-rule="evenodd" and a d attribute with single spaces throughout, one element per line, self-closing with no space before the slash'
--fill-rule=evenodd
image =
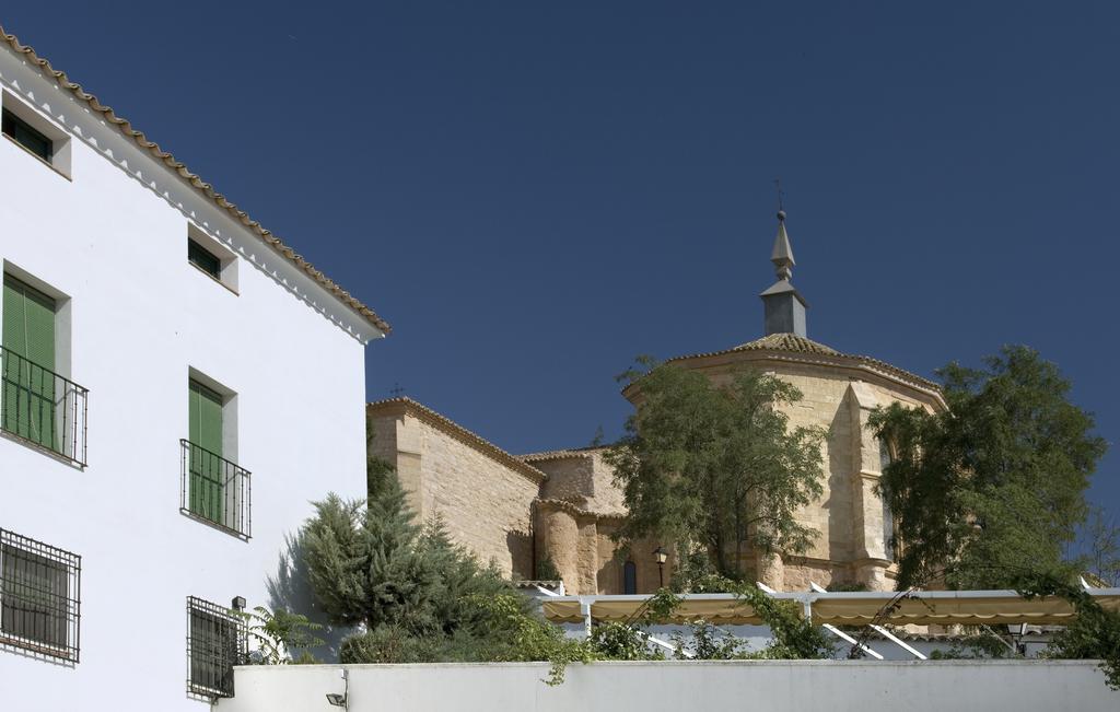
<path id="1" fill-rule="evenodd" d="M 364 493 L 389 327 L 3 40 L 0 709 L 198 710 L 231 600 Z"/>

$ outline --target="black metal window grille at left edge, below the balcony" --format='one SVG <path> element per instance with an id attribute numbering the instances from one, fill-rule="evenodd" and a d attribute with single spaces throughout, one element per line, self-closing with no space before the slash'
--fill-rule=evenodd
<path id="1" fill-rule="evenodd" d="M 78 662 L 82 558 L 0 530 L 0 646 Z"/>

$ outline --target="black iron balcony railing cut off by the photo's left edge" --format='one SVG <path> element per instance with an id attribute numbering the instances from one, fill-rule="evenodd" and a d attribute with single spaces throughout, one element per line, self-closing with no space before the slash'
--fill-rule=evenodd
<path id="1" fill-rule="evenodd" d="M 88 388 L 0 347 L 0 430 L 85 467 Z"/>

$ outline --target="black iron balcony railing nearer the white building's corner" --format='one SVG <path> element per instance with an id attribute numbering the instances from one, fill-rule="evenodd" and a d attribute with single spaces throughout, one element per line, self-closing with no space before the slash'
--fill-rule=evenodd
<path id="1" fill-rule="evenodd" d="M 181 446 L 179 510 L 248 540 L 252 530 L 251 472 L 189 440 Z"/>

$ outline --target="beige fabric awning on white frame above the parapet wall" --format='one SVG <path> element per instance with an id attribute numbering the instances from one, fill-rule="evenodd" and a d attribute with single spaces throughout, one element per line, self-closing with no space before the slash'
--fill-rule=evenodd
<path id="1" fill-rule="evenodd" d="M 1093 598 L 1109 610 L 1120 611 L 1120 589 L 1096 589 Z M 813 622 L 866 626 L 894 598 L 890 592 L 775 593 L 812 610 Z M 542 601 L 544 617 L 552 622 L 584 622 L 581 603 L 590 606 L 594 620 L 624 621 L 640 612 L 645 596 L 564 596 Z M 922 591 L 898 601 L 883 622 L 912 625 L 1034 624 L 1061 625 L 1074 617 L 1073 607 L 1056 598 L 1027 600 L 1015 591 Z M 671 620 L 681 624 L 699 618 L 722 625 L 759 625 L 750 606 L 726 593 L 688 594 Z"/>

